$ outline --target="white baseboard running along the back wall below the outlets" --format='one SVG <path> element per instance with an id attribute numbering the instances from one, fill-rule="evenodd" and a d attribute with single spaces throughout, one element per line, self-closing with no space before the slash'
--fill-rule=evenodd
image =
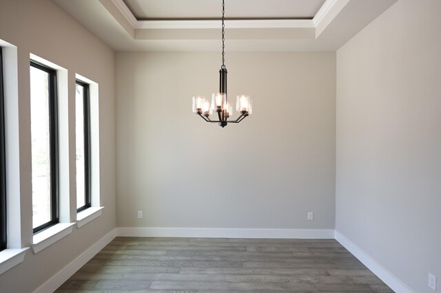
<path id="1" fill-rule="evenodd" d="M 122 237 L 334 239 L 327 229 L 116 228 Z"/>

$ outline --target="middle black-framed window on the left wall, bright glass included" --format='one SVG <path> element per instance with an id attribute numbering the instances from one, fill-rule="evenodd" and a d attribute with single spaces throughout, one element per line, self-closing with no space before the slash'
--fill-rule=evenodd
<path id="1" fill-rule="evenodd" d="M 31 61 L 32 228 L 59 223 L 57 72 Z"/>

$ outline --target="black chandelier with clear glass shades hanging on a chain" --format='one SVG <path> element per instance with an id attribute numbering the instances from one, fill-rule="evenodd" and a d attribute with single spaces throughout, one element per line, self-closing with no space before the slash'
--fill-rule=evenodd
<path id="1" fill-rule="evenodd" d="M 236 111 L 240 116 L 236 120 L 228 120 L 232 115 L 232 106 L 227 100 L 227 68 L 225 67 L 225 0 L 222 0 L 222 66 L 219 70 L 219 92 L 212 94 L 212 102 L 205 96 L 193 97 L 193 112 L 205 121 L 218 123 L 220 127 L 228 123 L 238 123 L 253 112 L 252 100 L 249 95 L 239 95 L 236 100 Z M 218 120 L 211 120 L 209 116 L 216 111 Z"/>

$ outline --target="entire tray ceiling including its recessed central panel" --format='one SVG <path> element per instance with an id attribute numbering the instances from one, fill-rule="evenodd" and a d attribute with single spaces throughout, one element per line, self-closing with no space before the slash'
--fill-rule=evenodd
<path id="1" fill-rule="evenodd" d="M 52 0 L 116 51 L 219 51 L 220 0 Z M 225 0 L 228 51 L 336 51 L 397 0 Z"/>

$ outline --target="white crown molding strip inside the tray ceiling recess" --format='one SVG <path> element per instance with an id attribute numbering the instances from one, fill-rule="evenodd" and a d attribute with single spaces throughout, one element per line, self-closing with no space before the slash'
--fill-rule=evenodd
<path id="1" fill-rule="evenodd" d="M 218 28 L 219 21 L 201 20 L 172 20 L 172 21 L 139 21 L 134 17 L 123 0 L 111 0 L 123 17 L 132 25 L 134 30 L 156 29 L 213 29 Z M 326 19 L 334 19 L 349 0 L 326 0 L 314 19 L 242 19 L 225 22 L 225 28 L 261 29 L 261 28 L 318 28 Z M 329 17 L 331 15 L 331 17 Z M 331 21 L 326 21 L 329 24 Z M 326 27 L 327 25 L 325 25 Z M 324 30 L 324 28 L 322 28 Z M 320 32 L 322 31 L 320 30 Z M 318 36 L 318 34 L 316 34 Z"/>

